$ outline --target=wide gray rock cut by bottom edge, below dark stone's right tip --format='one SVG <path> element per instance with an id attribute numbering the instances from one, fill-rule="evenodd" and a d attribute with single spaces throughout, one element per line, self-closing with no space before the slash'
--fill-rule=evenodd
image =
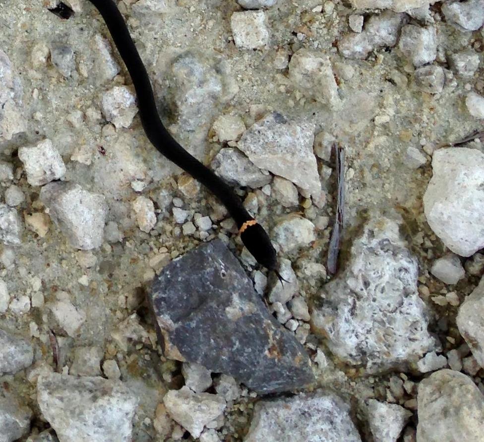
<path id="1" fill-rule="evenodd" d="M 244 442 L 361 442 L 349 406 L 334 394 L 260 401 Z"/>

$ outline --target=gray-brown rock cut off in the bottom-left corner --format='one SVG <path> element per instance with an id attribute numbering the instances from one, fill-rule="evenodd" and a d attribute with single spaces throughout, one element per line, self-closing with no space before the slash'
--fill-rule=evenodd
<path id="1" fill-rule="evenodd" d="M 13 442 L 28 434 L 31 416 L 32 411 L 13 394 L 0 389 L 0 442 Z"/>

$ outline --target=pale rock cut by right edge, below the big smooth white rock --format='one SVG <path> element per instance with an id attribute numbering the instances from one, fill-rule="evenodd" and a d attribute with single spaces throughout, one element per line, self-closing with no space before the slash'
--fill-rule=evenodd
<path id="1" fill-rule="evenodd" d="M 484 277 L 459 308 L 456 322 L 473 356 L 484 368 Z"/>

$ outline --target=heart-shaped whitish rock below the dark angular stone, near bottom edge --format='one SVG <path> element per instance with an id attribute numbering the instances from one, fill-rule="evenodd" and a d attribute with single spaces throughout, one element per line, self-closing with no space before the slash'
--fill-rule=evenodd
<path id="1" fill-rule="evenodd" d="M 170 416 L 193 438 L 198 438 L 203 428 L 217 419 L 225 410 L 225 399 L 217 394 L 193 393 L 188 387 L 170 390 L 163 402 Z"/>

